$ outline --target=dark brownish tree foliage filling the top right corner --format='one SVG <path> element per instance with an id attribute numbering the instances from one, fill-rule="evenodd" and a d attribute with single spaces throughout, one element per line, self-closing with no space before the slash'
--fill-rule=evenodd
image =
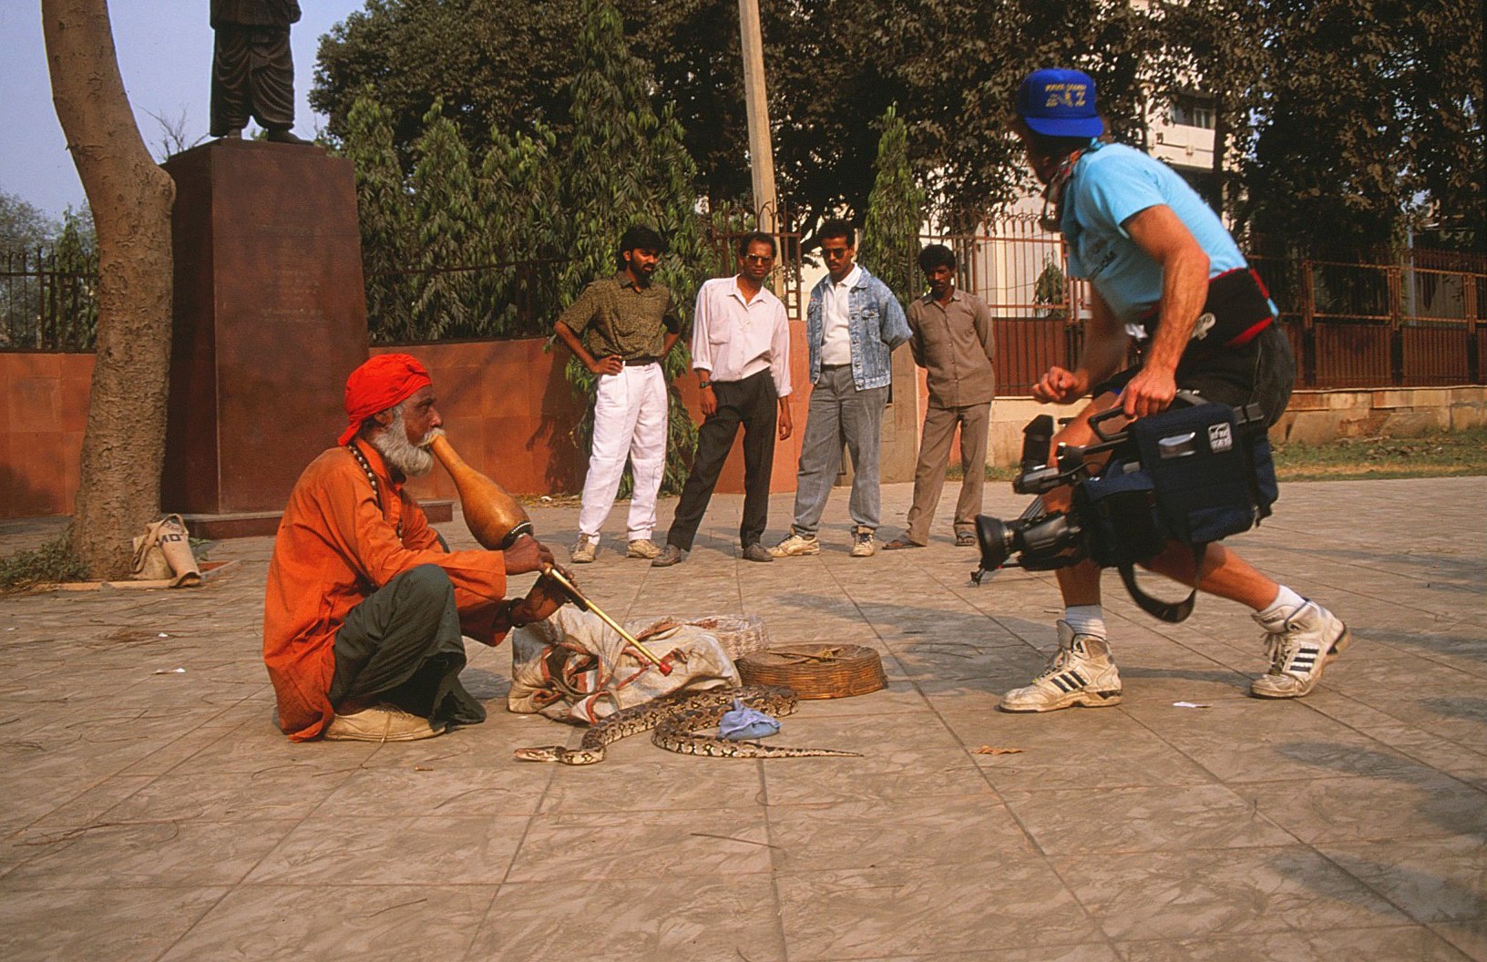
<path id="1" fill-rule="evenodd" d="M 1483 24 L 1466 0 L 1268 0 L 1274 68 L 1245 172 L 1268 238 L 1356 250 L 1399 244 L 1425 214 L 1487 250 Z"/>

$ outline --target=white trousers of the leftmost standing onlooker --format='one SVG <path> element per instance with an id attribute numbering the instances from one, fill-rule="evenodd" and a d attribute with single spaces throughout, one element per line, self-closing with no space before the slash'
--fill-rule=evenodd
<path id="1" fill-rule="evenodd" d="M 626 540 L 650 538 L 656 529 L 656 494 L 666 468 L 666 376 L 660 364 L 626 367 L 599 376 L 593 400 L 593 448 L 583 482 L 578 532 L 598 537 L 614 507 L 625 461 L 635 476 Z"/>

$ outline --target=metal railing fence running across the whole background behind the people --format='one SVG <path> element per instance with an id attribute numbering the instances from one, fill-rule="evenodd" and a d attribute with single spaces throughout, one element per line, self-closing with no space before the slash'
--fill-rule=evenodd
<path id="1" fill-rule="evenodd" d="M 751 216 L 714 216 L 709 263 L 699 277 L 736 268 L 733 247 Z M 793 318 L 803 315 L 801 230 L 788 216 L 775 290 Z M 1014 214 L 971 232 L 937 232 L 923 242 L 956 251 L 961 287 L 992 308 L 998 390 L 1026 394 L 1051 364 L 1071 367 L 1084 345 L 1088 287 L 1068 277 L 1063 242 L 1032 214 Z M 1399 259 L 1320 260 L 1251 256 L 1280 306 L 1300 364 L 1298 387 L 1384 388 L 1487 384 L 1487 259 L 1407 251 Z M 367 278 L 378 340 L 409 342 L 419 312 L 437 312 L 440 339 L 529 338 L 550 330 L 559 260 L 394 271 Z M 0 349 L 88 351 L 98 317 L 97 260 L 25 251 L 0 257 Z M 470 290 L 464 290 L 470 288 Z M 451 323 L 442 305 L 474 291 L 474 308 Z M 387 317 L 384 317 L 384 314 Z"/>

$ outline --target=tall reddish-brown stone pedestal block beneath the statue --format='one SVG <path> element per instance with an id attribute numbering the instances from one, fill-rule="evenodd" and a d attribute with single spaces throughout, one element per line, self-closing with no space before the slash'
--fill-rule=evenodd
<path id="1" fill-rule="evenodd" d="M 161 501 L 272 534 L 367 358 L 351 162 L 219 140 L 172 156 L 175 329 Z"/>

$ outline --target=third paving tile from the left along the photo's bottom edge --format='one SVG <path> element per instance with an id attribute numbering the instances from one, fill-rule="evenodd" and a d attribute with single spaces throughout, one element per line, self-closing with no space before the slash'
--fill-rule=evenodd
<path id="1" fill-rule="evenodd" d="M 767 874 L 641 874 L 625 885 L 503 885 L 464 958 L 784 962 L 787 956 Z"/>

